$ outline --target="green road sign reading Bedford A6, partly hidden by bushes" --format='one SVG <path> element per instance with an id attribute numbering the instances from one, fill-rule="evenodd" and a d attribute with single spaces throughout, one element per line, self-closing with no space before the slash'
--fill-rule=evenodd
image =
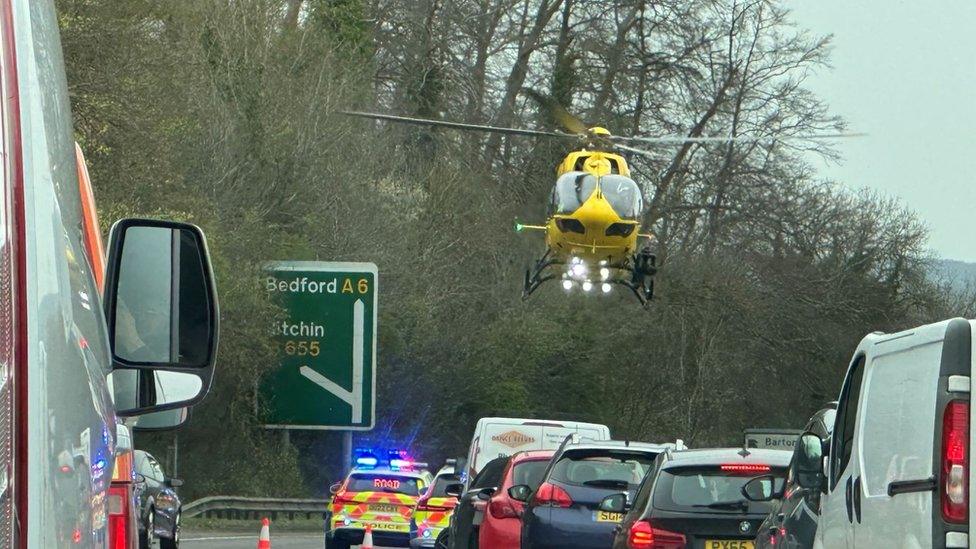
<path id="1" fill-rule="evenodd" d="M 265 265 L 263 287 L 286 311 L 273 329 L 280 366 L 259 390 L 267 427 L 373 428 L 376 284 L 372 263 Z"/>

